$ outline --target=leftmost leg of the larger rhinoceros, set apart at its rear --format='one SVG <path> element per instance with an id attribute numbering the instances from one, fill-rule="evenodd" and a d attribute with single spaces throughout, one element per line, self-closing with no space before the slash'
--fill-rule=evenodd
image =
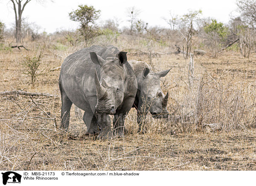
<path id="1" fill-rule="evenodd" d="M 61 127 L 65 131 L 68 130 L 69 119 L 70 119 L 70 108 L 72 106 L 72 102 L 67 97 L 65 92 L 61 91 Z"/>

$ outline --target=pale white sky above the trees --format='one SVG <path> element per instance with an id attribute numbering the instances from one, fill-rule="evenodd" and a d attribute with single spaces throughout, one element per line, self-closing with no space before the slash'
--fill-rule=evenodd
<path id="1" fill-rule="evenodd" d="M 121 27 L 128 26 L 126 9 L 131 6 L 141 10 L 139 18 L 149 26 L 162 27 L 168 27 L 163 17 L 169 17 L 169 11 L 183 15 L 188 10 L 201 9 L 203 17 L 212 17 L 227 23 L 230 13 L 236 10 L 236 0 L 45 0 L 45 3 L 32 0 L 25 7 L 23 17 L 26 17 L 28 22 L 35 22 L 46 32 L 76 29 L 79 24 L 71 21 L 68 13 L 77 9 L 80 4 L 101 10 L 98 23 L 117 17 L 121 21 Z M 0 20 L 7 28 L 15 23 L 13 6 L 9 0 L 0 0 Z"/>

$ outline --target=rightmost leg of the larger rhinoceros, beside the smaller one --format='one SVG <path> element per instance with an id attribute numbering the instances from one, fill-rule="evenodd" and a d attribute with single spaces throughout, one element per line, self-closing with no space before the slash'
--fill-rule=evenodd
<path id="1" fill-rule="evenodd" d="M 124 134 L 127 134 L 125 130 L 125 117 L 131 110 L 131 107 L 134 103 L 134 97 L 128 97 L 124 100 L 122 108 L 116 112 L 113 118 L 113 128 L 115 134 L 119 137 L 123 137 Z"/>

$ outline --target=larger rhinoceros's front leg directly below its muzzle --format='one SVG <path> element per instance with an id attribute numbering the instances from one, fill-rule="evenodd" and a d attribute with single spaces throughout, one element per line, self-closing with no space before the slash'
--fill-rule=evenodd
<path id="1" fill-rule="evenodd" d="M 100 133 L 98 135 L 98 139 L 111 139 L 113 137 L 111 131 L 111 119 L 108 114 L 100 114 L 97 115 L 99 127 L 101 128 Z"/>

